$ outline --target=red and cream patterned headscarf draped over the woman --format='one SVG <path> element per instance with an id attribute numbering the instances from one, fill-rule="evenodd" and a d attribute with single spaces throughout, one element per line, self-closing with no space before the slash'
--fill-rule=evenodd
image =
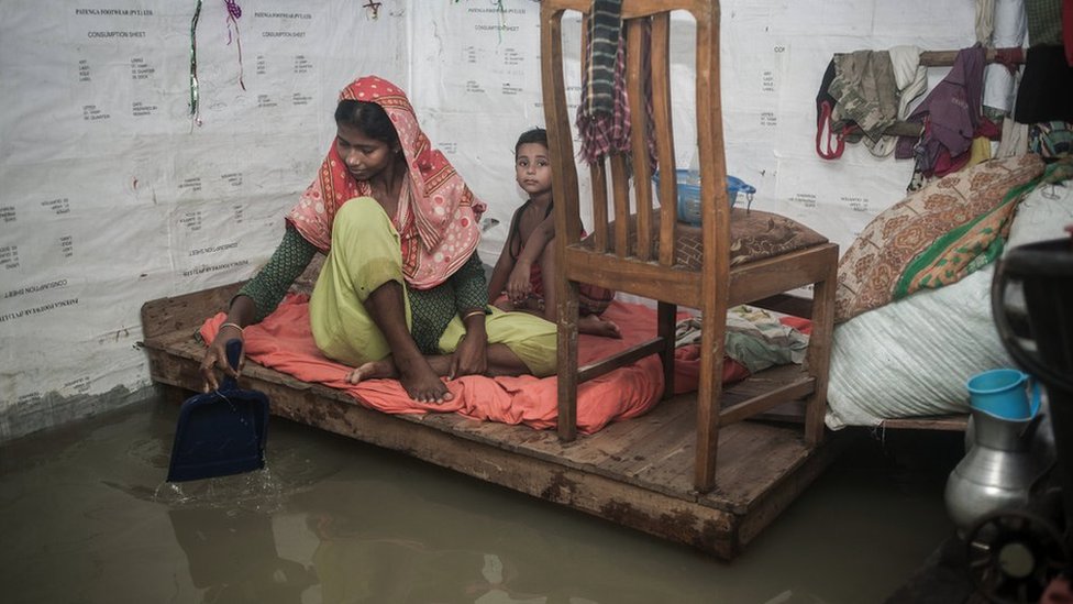
<path id="1" fill-rule="evenodd" d="M 485 205 L 418 125 L 410 101 L 394 84 L 376 76 L 351 83 L 339 100 L 372 101 L 395 124 L 409 166 L 399 199 L 396 228 L 401 235 L 402 273 L 408 284 L 428 289 L 443 283 L 469 260 L 480 239 L 477 223 Z M 355 197 L 372 195 L 368 180 L 346 169 L 333 143 L 320 172 L 287 220 L 307 241 L 328 252 L 335 212 Z"/>

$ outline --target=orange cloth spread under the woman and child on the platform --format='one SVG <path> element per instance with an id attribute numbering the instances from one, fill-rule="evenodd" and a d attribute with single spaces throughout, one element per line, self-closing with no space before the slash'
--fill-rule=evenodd
<path id="1" fill-rule="evenodd" d="M 447 382 L 454 398 L 442 405 L 411 400 L 397 380 L 347 383 L 351 367 L 324 358 L 313 343 L 308 301 L 306 295 L 289 294 L 264 321 L 246 328 L 246 356 L 302 382 L 346 391 L 362 405 L 388 414 L 458 413 L 474 419 L 526 424 L 536 429 L 555 427 L 558 411 L 554 376 L 458 377 Z M 655 310 L 642 305 L 616 300 L 604 317 L 618 323 L 622 339 L 579 336 L 582 364 L 642 342 L 655 332 Z M 221 312 L 206 320 L 201 326 L 206 341 L 215 338 L 224 319 Z M 697 347 L 679 348 L 675 356 L 675 392 L 696 389 Z M 748 375 L 741 364 L 730 359 L 724 361 L 723 382 L 735 382 Z M 655 355 L 585 382 L 577 393 L 577 429 L 591 433 L 611 421 L 643 415 L 660 400 L 662 391 L 663 372 Z"/>

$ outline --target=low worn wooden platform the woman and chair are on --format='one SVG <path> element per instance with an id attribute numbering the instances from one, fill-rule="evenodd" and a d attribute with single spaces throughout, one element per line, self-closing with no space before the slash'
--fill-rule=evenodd
<path id="1" fill-rule="evenodd" d="M 143 345 L 159 384 L 200 391 L 204 348 L 195 331 L 239 284 L 146 303 Z M 760 382 L 788 382 L 790 365 L 724 391 L 744 399 Z M 554 430 L 477 421 L 456 414 L 387 415 L 350 395 L 247 362 L 242 386 L 264 392 L 273 415 L 336 432 L 586 512 L 718 558 L 734 558 L 842 449 L 829 438 L 809 452 L 798 425 L 744 421 L 720 430 L 718 486 L 693 488 L 695 398 L 560 442 Z"/>

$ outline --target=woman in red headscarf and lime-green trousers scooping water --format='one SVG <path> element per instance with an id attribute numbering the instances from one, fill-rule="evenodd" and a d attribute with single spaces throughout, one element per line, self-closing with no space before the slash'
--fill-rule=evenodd
<path id="1" fill-rule="evenodd" d="M 397 377 L 422 403 L 450 400 L 441 376 L 554 373 L 555 326 L 488 307 L 477 222 L 484 210 L 432 149 L 406 95 L 363 77 L 340 95 L 335 143 L 287 216 L 268 264 L 232 299 L 201 362 L 235 374 L 226 341 L 275 310 L 313 255 L 327 254 L 309 304 L 324 355 L 351 383 Z"/>

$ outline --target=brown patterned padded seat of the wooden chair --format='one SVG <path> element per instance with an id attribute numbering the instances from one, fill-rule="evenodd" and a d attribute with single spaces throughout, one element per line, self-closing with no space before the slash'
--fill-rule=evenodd
<path id="1" fill-rule="evenodd" d="M 630 217 L 630 254 L 637 254 L 637 215 Z M 608 232 L 615 232 L 613 222 Z M 653 257 L 660 253 L 660 217 L 653 216 Z M 608 251 L 615 251 L 615 242 L 608 242 Z M 755 262 L 765 257 L 788 254 L 805 248 L 827 243 L 828 239 L 800 222 L 760 210 L 734 208 L 730 213 L 730 265 Z M 675 266 L 699 271 L 704 261 L 700 227 L 678 223 L 675 238 Z M 586 248 L 593 246 L 593 237 L 582 241 Z"/>

